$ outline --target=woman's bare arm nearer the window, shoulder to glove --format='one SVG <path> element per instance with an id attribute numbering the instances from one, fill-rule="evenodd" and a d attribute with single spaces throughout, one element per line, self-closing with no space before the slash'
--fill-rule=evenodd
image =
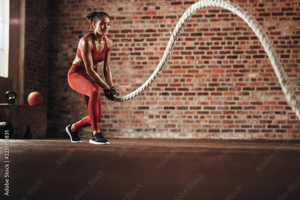
<path id="1" fill-rule="evenodd" d="M 82 37 L 79 42 L 81 47 L 82 60 L 86 69 L 86 73 L 95 81 L 102 89 L 110 89 L 110 87 L 100 78 L 97 72 L 93 69 L 93 58 L 91 51 L 93 49 L 93 42 L 88 36 Z"/>

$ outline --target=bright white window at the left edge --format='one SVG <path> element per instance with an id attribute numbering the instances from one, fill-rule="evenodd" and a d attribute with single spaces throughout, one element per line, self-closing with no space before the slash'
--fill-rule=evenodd
<path id="1" fill-rule="evenodd" d="M 9 0 L 0 1 L 0 76 L 8 77 Z"/>

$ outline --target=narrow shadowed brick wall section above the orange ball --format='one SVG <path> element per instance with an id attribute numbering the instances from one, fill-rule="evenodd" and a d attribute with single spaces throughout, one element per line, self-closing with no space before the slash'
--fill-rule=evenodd
<path id="1" fill-rule="evenodd" d="M 47 0 L 26 0 L 25 41 L 18 51 L 24 55 L 24 103 L 32 91 L 46 98 Z"/>

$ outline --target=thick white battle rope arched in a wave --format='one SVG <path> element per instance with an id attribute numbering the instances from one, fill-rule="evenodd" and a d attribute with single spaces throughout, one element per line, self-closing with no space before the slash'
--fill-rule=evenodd
<path id="1" fill-rule="evenodd" d="M 278 81 L 282 86 L 283 93 L 286 95 L 287 102 L 290 104 L 292 110 L 296 113 L 296 115 L 300 119 L 300 103 L 293 91 L 293 88 L 289 82 L 286 73 L 284 72 L 283 66 L 279 61 L 278 55 L 276 54 L 270 40 L 268 39 L 268 36 L 265 34 L 265 31 L 263 31 L 259 23 L 255 19 L 253 19 L 253 17 L 249 13 L 247 13 L 244 9 L 235 5 L 234 3 L 231 3 L 230 1 L 223 1 L 223 0 L 200 0 L 194 3 L 193 5 L 191 5 L 190 7 L 188 7 L 187 10 L 182 15 L 182 17 L 180 17 L 179 21 L 177 22 L 173 34 L 171 34 L 170 41 L 167 45 L 164 55 L 161 58 L 161 61 L 159 62 L 157 68 L 150 76 L 150 78 L 137 90 L 131 92 L 130 94 L 125 95 L 124 97 L 121 98 L 116 97 L 114 100 L 118 102 L 125 102 L 134 97 L 137 97 L 155 81 L 155 79 L 161 73 L 161 70 L 163 69 L 164 65 L 167 63 L 167 60 L 176 43 L 176 40 L 178 39 L 180 32 L 182 31 L 183 26 L 197 10 L 203 7 L 224 8 L 236 14 L 237 16 L 241 17 L 241 19 L 243 19 L 249 25 L 249 27 L 253 30 L 253 32 L 258 37 L 259 41 L 262 43 L 262 46 L 265 52 L 267 53 L 268 58 L 271 61 L 272 67 L 275 71 Z"/>

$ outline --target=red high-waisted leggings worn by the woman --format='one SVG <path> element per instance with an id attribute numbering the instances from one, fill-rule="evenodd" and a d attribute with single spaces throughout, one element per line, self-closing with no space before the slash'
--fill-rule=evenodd
<path id="1" fill-rule="evenodd" d="M 97 68 L 96 68 L 97 72 Z M 68 82 L 71 88 L 83 94 L 88 116 L 75 123 L 75 128 L 80 129 L 92 126 L 93 131 L 99 130 L 101 119 L 101 98 L 99 85 L 93 82 L 86 73 L 85 67 L 73 64 L 68 73 Z"/>

